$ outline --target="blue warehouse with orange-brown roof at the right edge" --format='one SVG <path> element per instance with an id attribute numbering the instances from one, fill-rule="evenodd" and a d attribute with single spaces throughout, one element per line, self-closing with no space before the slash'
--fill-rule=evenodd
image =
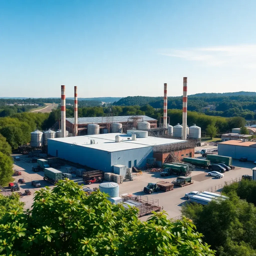
<path id="1" fill-rule="evenodd" d="M 218 154 L 231 156 L 234 159 L 247 157 L 248 161 L 256 161 L 256 142 L 230 140 L 218 143 Z"/>

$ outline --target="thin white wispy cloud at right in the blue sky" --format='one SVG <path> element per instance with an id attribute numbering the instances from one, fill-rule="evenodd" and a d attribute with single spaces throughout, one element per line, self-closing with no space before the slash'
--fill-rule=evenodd
<path id="1" fill-rule="evenodd" d="M 207 66 L 256 68 L 256 45 L 165 49 L 161 55 L 197 61 Z"/>

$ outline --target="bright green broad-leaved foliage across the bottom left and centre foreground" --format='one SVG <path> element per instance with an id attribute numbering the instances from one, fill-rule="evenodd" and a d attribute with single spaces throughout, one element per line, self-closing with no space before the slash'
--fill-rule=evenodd
<path id="1" fill-rule="evenodd" d="M 86 194 L 73 181 L 35 194 L 33 209 L 14 208 L 0 220 L 2 255 L 195 255 L 215 253 L 191 221 L 171 222 L 154 213 L 147 222 L 136 210 L 112 205 L 97 191 Z"/>

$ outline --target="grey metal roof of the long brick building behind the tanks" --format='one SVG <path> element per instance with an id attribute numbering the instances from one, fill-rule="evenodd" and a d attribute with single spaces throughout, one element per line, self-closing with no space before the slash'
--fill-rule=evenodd
<path id="1" fill-rule="evenodd" d="M 117 123 L 117 122 L 127 122 L 128 118 L 130 118 L 130 115 L 126 115 L 126 116 L 113 116 L 113 122 Z M 151 118 L 149 116 L 146 115 L 137 115 L 136 117 L 141 117 L 143 118 L 143 121 L 157 121 L 154 118 Z M 108 121 L 109 121 L 109 117 L 108 117 Z M 112 119 L 112 118 L 111 118 Z M 74 123 L 74 118 L 66 118 L 66 120 L 70 123 Z M 111 120 L 112 121 L 112 120 Z M 78 118 L 78 124 L 91 124 L 91 123 L 107 123 L 107 117 L 79 117 Z"/>

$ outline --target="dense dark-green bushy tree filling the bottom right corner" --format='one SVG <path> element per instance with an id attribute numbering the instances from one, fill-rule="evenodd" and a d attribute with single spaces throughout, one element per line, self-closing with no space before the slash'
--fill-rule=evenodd
<path id="1" fill-rule="evenodd" d="M 235 192 L 229 193 L 229 199 L 214 200 L 206 206 L 187 204 L 182 213 L 193 220 L 217 255 L 256 255 L 256 207 Z"/>

